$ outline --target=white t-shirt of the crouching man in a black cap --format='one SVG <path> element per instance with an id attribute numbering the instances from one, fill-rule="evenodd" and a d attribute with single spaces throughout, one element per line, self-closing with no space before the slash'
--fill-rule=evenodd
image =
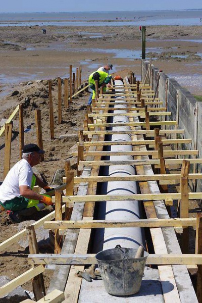
<path id="1" fill-rule="evenodd" d="M 0 200 L 4 203 L 20 196 L 20 186 L 31 187 L 33 170 L 29 163 L 22 159 L 8 172 L 4 182 L 0 186 Z"/>

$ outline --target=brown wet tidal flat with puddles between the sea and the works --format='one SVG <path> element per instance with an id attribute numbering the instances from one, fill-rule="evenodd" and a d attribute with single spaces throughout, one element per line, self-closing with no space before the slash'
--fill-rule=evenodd
<path id="1" fill-rule="evenodd" d="M 192 93 L 202 94 L 200 85 L 192 87 L 197 83 L 195 77 L 200 79 L 200 41 L 201 26 L 149 26 L 146 57 L 152 57 L 153 64 L 167 75 L 180 75 Z M 69 64 L 73 71 L 82 65 L 83 79 L 87 79 L 107 62 L 113 64 L 113 72 L 128 68 L 140 78 L 140 55 L 141 33 L 134 26 L 48 26 L 45 35 L 40 26 L 1 27 L 0 81 L 8 84 L 68 77 Z M 183 76 L 193 77 L 193 83 Z"/>

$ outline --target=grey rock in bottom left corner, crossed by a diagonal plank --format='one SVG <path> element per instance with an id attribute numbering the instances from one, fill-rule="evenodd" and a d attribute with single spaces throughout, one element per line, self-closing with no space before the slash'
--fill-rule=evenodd
<path id="1" fill-rule="evenodd" d="M 0 276 L 0 287 L 10 282 L 11 279 L 7 276 Z M 0 303 L 18 303 L 22 300 L 26 300 L 28 295 L 25 293 L 21 286 L 18 286 L 8 294 L 1 296 Z"/>

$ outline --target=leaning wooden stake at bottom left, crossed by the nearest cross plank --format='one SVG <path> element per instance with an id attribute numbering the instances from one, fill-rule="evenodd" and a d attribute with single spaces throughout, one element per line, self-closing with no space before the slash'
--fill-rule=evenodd
<path id="1" fill-rule="evenodd" d="M 26 231 L 29 240 L 29 252 L 30 254 L 38 254 L 38 244 L 36 239 L 36 233 L 33 225 L 27 226 Z M 35 266 L 33 266 L 35 267 Z M 40 300 L 45 296 L 45 285 L 43 280 L 43 274 L 39 274 L 32 279 L 32 287 L 36 300 Z"/>

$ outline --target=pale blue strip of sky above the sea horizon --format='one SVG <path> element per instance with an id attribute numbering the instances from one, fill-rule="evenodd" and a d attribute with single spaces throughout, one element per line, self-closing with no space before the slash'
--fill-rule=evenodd
<path id="1" fill-rule="evenodd" d="M 1 0 L 1 13 L 202 9 L 201 0 Z"/>

